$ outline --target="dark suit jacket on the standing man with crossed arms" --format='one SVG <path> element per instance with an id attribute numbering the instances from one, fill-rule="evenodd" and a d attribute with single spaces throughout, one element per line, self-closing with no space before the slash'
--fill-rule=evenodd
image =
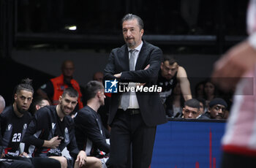
<path id="1" fill-rule="evenodd" d="M 135 66 L 135 71 L 129 71 L 129 53 L 127 45 L 111 51 L 108 64 L 104 70 L 105 80 L 114 80 L 113 75 L 121 72 L 118 82 L 146 83 L 150 87 L 157 84 L 159 67 L 162 61 L 162 50 L 143 40 L 140 54 Z M 150 64 L 149 68 L 144 70 Z M 111 125 L 118 110 L 121 93 L 112 93 L 110 101 L 110 115 L 108 124 Z M 159 98 L 159 93 L 136 93 L 143 121 L 147 126 L 167 122 L 164 108 Z"/>

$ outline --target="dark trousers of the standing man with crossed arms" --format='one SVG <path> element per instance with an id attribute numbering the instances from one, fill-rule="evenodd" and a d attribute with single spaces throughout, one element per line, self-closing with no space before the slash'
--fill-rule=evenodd
<path id="1" fill-rule="evenodd" d="M 130 115 L 118 110 L 111 124 L 108 167 L 127 167 L 132 150 L 132 167 L 148 168 L 151 164 L 156 128 L 146 126 L 140 114 Z"/>

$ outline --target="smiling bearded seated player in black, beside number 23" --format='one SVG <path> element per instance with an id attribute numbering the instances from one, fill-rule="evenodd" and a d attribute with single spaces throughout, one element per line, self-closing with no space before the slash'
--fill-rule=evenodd
<path id="1" fill-rule="evenodd" d="M 78 91 L 66 88 L 59 96 L 59 104 L 40 108 L 29 124 L 24 142 L 34 145 L 29 150 L 33 157 L 50 157 L 60 161 L 64 167 L 101 167 L 99 159 L 87 157 L 83 150 L 78 150 L 75 140 L 74 121 L 70 114 L 78 103 Z M 67 147 L 71 158 L 61 156 Z M 74 160 L 76 159 L 76 160 Z"/>

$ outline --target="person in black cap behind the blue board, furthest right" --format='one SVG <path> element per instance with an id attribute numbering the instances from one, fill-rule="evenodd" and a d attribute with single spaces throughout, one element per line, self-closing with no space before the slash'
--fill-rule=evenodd
<path id="1" fill-rule="evenodd" d="M 200 116 L 200 119 L 227 119 L 227 102 L 221 98 L 215 98 L 209 103 L 208 111 Z"/>

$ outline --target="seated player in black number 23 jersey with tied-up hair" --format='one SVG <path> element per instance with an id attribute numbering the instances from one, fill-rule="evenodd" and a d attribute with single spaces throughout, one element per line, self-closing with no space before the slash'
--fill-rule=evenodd
<path id="1" fill-rule="evenodd" d="M 1 158 L 11 159 L 4 163 L 5 167 L 33 167 L 31 160 L 26 158 L 26 153 L 20 153 L 20 142 L 31 121 L 28 110 L 33 93 L 31 80 L 22 80 L 15 88 L 14 103 L 6 107 L 0 115 Z"/>

